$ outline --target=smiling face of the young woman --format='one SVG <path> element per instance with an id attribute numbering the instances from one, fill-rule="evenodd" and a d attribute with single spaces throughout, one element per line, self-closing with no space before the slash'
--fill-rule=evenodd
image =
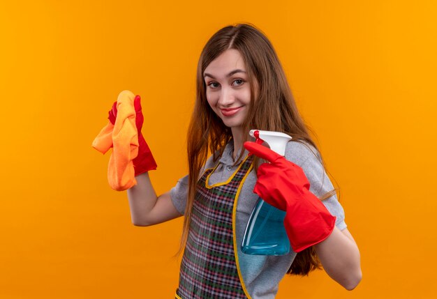
<path id="1" fill-rule="evenodd" d="M 251 86 L 242 55 L 228 49 L 203 72 L 207 100 L 232 133 L 242 128 L 251 105 Z"/>

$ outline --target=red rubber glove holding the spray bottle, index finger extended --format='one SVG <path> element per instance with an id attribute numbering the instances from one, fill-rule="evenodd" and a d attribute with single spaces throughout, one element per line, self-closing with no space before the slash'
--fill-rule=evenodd
<path id="1" fill-rule="evenodd" d="M 301 252 L 325 240 L 334 229 L 335 217 L 309 191 L 309 181 L 302 168 L 255 142 L 245 142 L 244 147 L 270 162 L 258 168 L 253 192 L 268 204 L 286 211 L 284 226 L 292 249 Z"/>

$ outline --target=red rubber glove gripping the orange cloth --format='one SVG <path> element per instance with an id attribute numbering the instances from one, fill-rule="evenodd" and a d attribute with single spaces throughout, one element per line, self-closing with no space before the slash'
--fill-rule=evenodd
<path id="1" fill-rule="evenodd" d="M 133 106 L 135 107 L 135 125 L 138 130 L 138 155 L 133 162 L 133 169 L 135 170 L 135 176 L 139 174 L 143 174 L 149 170 L 156 169 L 156 162 L 154 156 L 151 154 L 150 148 L 147 145 L 146 140 L 142 136 L 141 128 L 142 123 L 144 122 L 144 116 L 141 112 L 141 98 L 140 95 L 135 96 L 135 100 L 133 100 Z M 115 120 L 117 118 L 117 101 L 112 105 L 112 109 L 109 111 L 108 119 L 114 125 Z"/>

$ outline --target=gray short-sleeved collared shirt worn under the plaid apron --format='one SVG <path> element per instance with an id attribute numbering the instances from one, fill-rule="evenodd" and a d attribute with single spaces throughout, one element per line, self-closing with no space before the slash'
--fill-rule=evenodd
<path id="1" fill-rule="evenodd" d="M 209 177 L 209 185 L 227 181 L 237 170 L 239 164 L 233 165 L 232 158 L 233 143 L 226 145 L 223 155 L 215 163 L 210 157 L 205 163 L 204 169 L 213 168 L 219 163 L 214 173 Z M 248 152 L 245 151 L 244 156 Z M 286 159 L 302 167 L 310 183 L 310 191 L 317 197 L 322 197 L 334 189 L 329 180 L 320 155 L 313 146 L 300 141 L 290 141 L 286 146 Z M 241 163 L 241 162 L 240 162 Z M 249 295 L 253 299 L 273 299 L 278 291 L 278 284 L 286 275 L 296 253 L 291 252 L 285 256 L 260 256 L 244 254 L 241 251 L 241 244 L 249 222 L 249 216 L 258 201 L 258 195 L 253 193 L 256 176 L 254 171 L 247 176 L 242 186 L 237 201 L 237 215 L 235 217 L 235 233 L 237 238 L 239 268 L 242 279 Z M 179 179 L 177 185 L 170 190 L 172 202 L 179 213 L 184 214 L 188 194 L 188 176 Z M 336 195 L 322 201 L 329 213 L 336 216 L 336 227 L 340 230 L 346 229 L 344 222 L 344 211 Z"/>

